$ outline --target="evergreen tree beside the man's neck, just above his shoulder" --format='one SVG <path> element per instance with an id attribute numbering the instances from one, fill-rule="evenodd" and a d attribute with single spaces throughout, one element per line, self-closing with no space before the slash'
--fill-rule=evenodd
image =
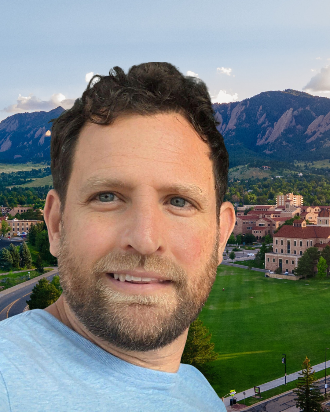
<path id="1" fill-rule="evenodd" d="M 210 342 L 211 337 L 212 334 L 200 319 L 193 321 L 189 326 L 181 363 L 199 368 L 204 363 L 217 360 L 218 353 L 214 352 L 214 343 Z"/>

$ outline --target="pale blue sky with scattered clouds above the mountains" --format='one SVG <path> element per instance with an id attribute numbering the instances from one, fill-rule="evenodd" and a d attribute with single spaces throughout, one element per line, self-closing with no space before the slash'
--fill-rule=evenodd
<path id="1" fill-rule="evenodd" d="M 330 97 L 328 0 L 15 0 L 0 13 L 0 120 L 69 107 L 87 73 L 145 61 L 195 73 L 214 101 Z"/>

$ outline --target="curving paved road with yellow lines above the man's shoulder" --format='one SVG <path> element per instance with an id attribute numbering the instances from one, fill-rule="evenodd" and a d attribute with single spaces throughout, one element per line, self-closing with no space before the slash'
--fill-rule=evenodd
<path id="1" fill-rule="evenodd" d="M 57 273 L 58 269 L 56 268 L 12 288 L 2 290 L 0 292 L 0 321 L 23 312 L 27 306 L 26 300 L 29 300 L 35 284 L 44 277 L 52 280 Z"/>

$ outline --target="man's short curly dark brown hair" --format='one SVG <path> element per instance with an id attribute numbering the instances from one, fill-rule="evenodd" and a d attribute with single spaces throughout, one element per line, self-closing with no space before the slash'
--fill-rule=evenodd
<path id="1" fill-rule="evenodd" d="M 151 115 L 178 112 L 210 147 L 217 217 L 227 187 L 228 153 L 217 130 L 210 95 L 204 82 L 184 76 L 170 63 L 142 63 L 128 73 L 116 66 L 108 76 L 95 75 L 73 107 L 53 119 L 50 145 L 54 189 L 63 210 L 73 155 L 86 122 L 109 125 L 125 113 Z"/>

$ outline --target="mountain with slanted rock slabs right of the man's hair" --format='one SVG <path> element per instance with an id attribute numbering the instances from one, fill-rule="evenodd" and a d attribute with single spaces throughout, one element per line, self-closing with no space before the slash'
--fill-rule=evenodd
<path id="1" fill-rule="evenodd" d="M 235 103 L 215 103 L 213 108 L 231 166 L 253 157 L 285 162 L 330 158 L 328 98 L 287 89 Z"/>

